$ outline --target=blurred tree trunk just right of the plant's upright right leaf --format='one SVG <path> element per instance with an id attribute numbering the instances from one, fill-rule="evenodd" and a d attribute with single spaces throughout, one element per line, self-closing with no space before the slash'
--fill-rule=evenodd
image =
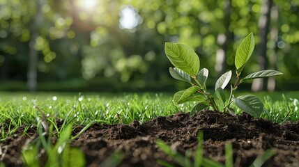
<path id="1" fill-rule="evenodd" d="M 268 67 L 267 59 L 267 37 L 270 27 L 270 9 L 272 6 L 272 0 L 263 0 L 263 6 L 261 7 L 261 17 L 259 17 L 259 55 L 257 61 L 259 62 L 259 70 L 266 70 Z M 266 79 L 254 79 L 252 82 L 252 91 L 256 92 L 259 90 L 264 90 L 266 87 Z"/>

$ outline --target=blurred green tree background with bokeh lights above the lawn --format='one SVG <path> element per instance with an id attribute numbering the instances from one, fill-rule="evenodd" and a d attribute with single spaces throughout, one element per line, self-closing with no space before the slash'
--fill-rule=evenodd
<path id="1" fill-rule="evenodd" d="M 0 90 L 164 90 L 164 42 L 192 47 L 210 86 L 254 33 L 249 74 L 282 77 L 252 89 L 296 89 L 299 0 L 0 0 Z M 23 84 L 22 84 L 23 83 Z M 250 88 L 250 84 L 244 88 Z"/>

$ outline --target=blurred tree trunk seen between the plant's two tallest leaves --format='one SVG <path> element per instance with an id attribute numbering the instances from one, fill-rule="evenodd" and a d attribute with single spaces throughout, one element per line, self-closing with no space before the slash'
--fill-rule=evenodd
<path id="1" fill-rule="evenodd" d="M 225 72 L 227 65 L 227 51 L 229 49 L 229 45 L 233 41 L 233 33 L 229 31 L 229 24 L 231 23 L 231 0 L 227 0 L 227 4 L 224 10 L 226 14 L 224 18 L 226 33 L 220 33 L 217 36 L 217 43 L 220 47 L 217 50 L 216 54 L 215 70 L 218 73 L 218 77 L 220 77 Z"/>

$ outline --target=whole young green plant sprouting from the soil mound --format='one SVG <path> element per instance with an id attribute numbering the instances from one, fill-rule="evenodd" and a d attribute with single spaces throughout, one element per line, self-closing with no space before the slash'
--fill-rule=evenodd
<path id="1" fill-rule="evenodd" d="M 235 83 L 230 86 L 231 90 L 229 95 L 226 95 L 224 88 L 231 81 L 231 70 L 225 72 L 219 79 L 217 79 L 215 93 L 210 93 L 206 88 L 208 69 L 200 69 L 199 56 L 197 56 L 195 51 L 187 45 L 166 42 L 165 53 L 169 61 L 174 65 L 174 67 L 169 67 L 171 77 L 191 84 L 190 88 L 178 91 L 174 94 L 174 102 L 176 104 L 197 102 L 197 105 L 195 105 L 191 111 L 191 116 L 194 115 L 194 113 L 209 107 L 212 107 L 215 111 L 234 113 L 230 106 L 232 102 L 235 102 L 235 104 L 246 113 L 249 113 L 254 117 L 259 117 L 263 112 L 263 103 L 258 97 L 254 95 L 242 95 L 234 98 L 233 93 L 235 93 L 238 86 L 245 81 L 271 77 L 282 74 L 282 72 L 276 70 L 262 70 L 242 78 L 242 71 L 247 61 L 250 59 L 253 50 L 254 36 L 250 33 L 236 51 L 236 79 Z"/>

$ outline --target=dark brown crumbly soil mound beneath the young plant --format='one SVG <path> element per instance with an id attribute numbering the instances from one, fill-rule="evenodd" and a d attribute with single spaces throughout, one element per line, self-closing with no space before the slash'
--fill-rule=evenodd
<path id="1" fill-rule="evenodd" d="M 83 127 L 77 127 L 74 134 Z M 36 138 L 35 130 L 20 128 L 13 136 L 0 143 L 0 160 L 6 166 L 22 166 L 21 150 Z M 246 113 L 240 116 L 203 111 L 190 118 L 189 113 L 158 117 L 140 124 L 92 125 L 71 142 L 86 157 L 86 166 L 98 166 L 110 154 L 121 151 L 123 161 L 118 166 L 160 166 L 158 159 L 175 166 L 175 161 L 164 154 L 155 141 L 162 139 L 171 148 L 185 153 L 197 148 L 197 134 L 204 132 L 204 157 L 224 163 L 224 145 L 233 145 L 234 166 L 250 166 L 257 156 L 269 148 L 276 154 L 263 166 L 299 166 L 299 122 L 282 125 L 254 119 Z M 40 152 L 43 154 L 43 152 Z M 43 166 L 43 164 L 42 164 Z"/>

